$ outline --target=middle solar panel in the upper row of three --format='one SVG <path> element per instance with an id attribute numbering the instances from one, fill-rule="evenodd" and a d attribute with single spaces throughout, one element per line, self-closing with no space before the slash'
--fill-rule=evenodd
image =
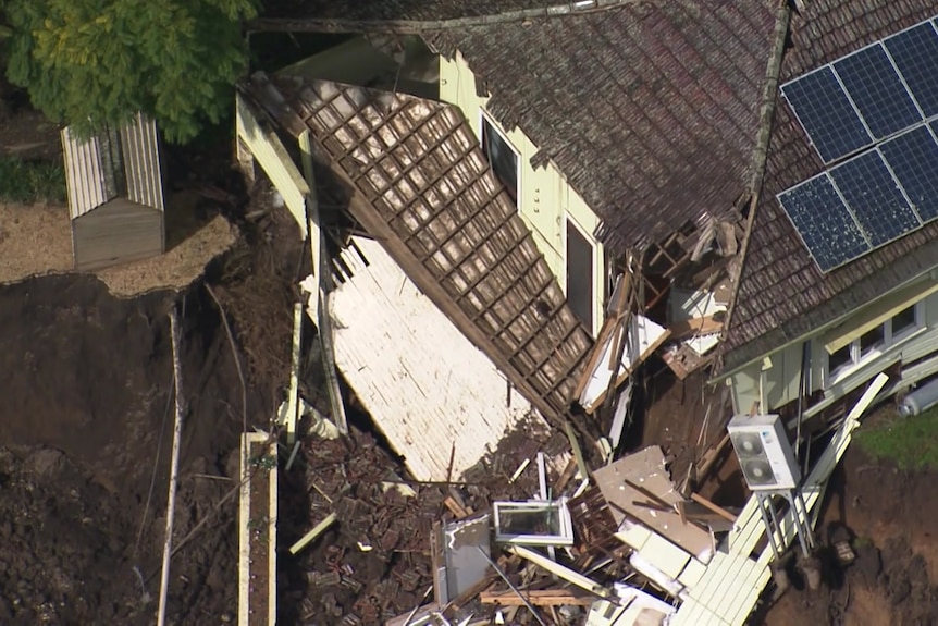
<path id="1" fill-rule="evenodd" d="M 877 139 L 922 121 L 922 114 L 881 46 L 871 46 L 844 57 L 834 63 L 834 69 Z"/>

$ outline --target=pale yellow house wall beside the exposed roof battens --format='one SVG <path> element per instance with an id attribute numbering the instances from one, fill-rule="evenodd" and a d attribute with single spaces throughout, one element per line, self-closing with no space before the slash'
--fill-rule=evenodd
<path id="1" fill-rule="evenodd" d="M 481 137 L 482 115 L 489 98 L 476 94 L 476 76 L 458 52 L 453 60 L 440 58 L 440 99 L 459 107 L 476 135 Z M 531 157 L 536 154 L 538 146 L 524 133 L 519 128 L 506 132 L 497 120 L 491 116 L 489 120 L 519 155 L 519 211 L 533 232 L 538 248 L 565 291 L 568 217 L 594 246 L 593 293 L 596 304 L 593 307 L 593 327 L 590 330 L 595 336 L 602 323 L 605 294 L 604 250 L 593 236 L 600 220 L 580 195 L 570 188 L 553 163 L 543 168 L 531 167 Z"/>

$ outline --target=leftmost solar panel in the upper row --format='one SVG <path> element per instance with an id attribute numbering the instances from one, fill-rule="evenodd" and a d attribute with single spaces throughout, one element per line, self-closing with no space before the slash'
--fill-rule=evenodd
<path id="1" fill-rule="evenodd" d="M 829 66 L 781 88 L 825 162 L 873 143 Z"/>

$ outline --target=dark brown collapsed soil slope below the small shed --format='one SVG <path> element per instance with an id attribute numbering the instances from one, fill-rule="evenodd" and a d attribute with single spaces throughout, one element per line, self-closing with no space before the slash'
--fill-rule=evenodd
<path id="1" fill-rule="evenodd" d="M 174 557 L 170 615 L 201 625 L 236 606 L 236 510 L 214 504 L 232 484 L 223 477 L 236 476 L 229 457 L 240 383 L 205 287 L 181 300 L 188 410 L 177 538 L 218 514 Z M 165 293 L 118 299 L 78 275 L 0 289 L 0 624 L 153 622 L 172 433 L 171 304 Z M 248 390 L 252 424 L 269 416 L 272 398 L 257 391 L 269 388 Z"/>

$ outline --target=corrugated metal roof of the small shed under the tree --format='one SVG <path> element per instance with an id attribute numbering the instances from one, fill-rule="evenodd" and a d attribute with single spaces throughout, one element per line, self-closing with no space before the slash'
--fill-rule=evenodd
<path id="1" fill-rule="evenodd" d="M 73 220 L 119 196 L 164 209 L 159 137 L 152 120 L 138 113 L 121 128 L 87 140 L 66 126 L 62 148 Z"/>

